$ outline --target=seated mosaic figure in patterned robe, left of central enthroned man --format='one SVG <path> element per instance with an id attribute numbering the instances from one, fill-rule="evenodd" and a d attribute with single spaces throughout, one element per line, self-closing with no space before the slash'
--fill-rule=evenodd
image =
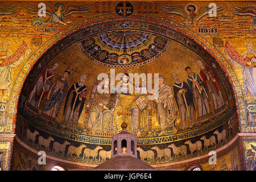
<path id="1" fill-rule="evenodd" d="M 97 80 L 99 82 L 100 80 Z M 96 84 L 96 87 L 100 86 Z M 116 96 L 110 93 L 109 78 L 104 80 L 103 92 L 93 90 L 92 109 L 89 113 L 88 128 L 91 131 L 113 132 L 113 110 Z"/>

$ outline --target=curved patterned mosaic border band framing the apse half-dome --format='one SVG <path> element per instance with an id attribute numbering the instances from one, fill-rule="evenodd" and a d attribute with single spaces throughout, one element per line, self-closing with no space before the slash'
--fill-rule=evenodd
<path id="1" fill-rule="evenodd" d="M 217 48 L 215 48 L 212 44 L 210 44 L 208 42 L 208 40 L 204 39 L 201 35 L 197 34 L 193 30 L 190 30 L 187 27 L 183 27 L 183 26 L 181 26 L 181 24 L 176 23 L 170 19 L 160 18 L 160 17 L 154 16 L 154 15 L 139 15 L 139 16 L 140 16 L 139 18 L 134 18 L 134 17 L 129 17 L 129 18 L 118 17 L 117 18 L 117 15 L 115 15 L 115 14 L 104 14 L 104 15 L 93 16 L 93 17 L 81 20 L 80 22 L 73 23 L 70 26 L 63 28 L 57 34 L 55 34 L 51 38 L 49 38 L 46 41 L 46 43 L 44 43 L 42 46 L 40 46 L 28 58 L 26 63 L 23 65 L 23 68 L 20 70 L 18 76 L 16 77 L 13 89 L 11 90 L 11 94 L 10 94 L 10 104 L 7 109 L 7 111 L 9 113 L 13 114 L 13 116 L 7 119 L 7 126 L 9 126 L 9 127 L 7 128 L 7 130 L 5 132 L 11 133 L 13 130 L 15 132 L 15 124 L 16 124 L 15 117 L 16 117 L 16 111 L 17 111 L 16 104 L 18 103 L 18 96 L 21 92 L 22 86 L 24 84 L 24 81 L 26 80 L 26 77 L 27 77 L 29 71 L 32 69 L 33 65 L 36 63 L 38 58 L 40 56 L 42 56 L 43 53 L 47 51 L 47 49 L 53 47 L 53 45 L 55 43 L 57 43 L 59 40 L 64 39 L 65 37 L 71 35 L 73 32 L 80 31 L 84 28 L 88 28 L 90 26 L 93 26 L 94 24 L 108 23 L 113 20 L 126 21 L 126 20 L 135 20 L 135 19 L 139 20 L 141 22 L 155 23 L 155 24 L 158 24 L 158 26 L 168 27 L 171 30 L 177 31 L 180 34 L 187 36 L 187 38 L 192 39 L 194 42 L 197 42 L 201 47 L 203 47 L 207 52 L 209 52 L 210 55 L 212 57 L 214 57 L 214 59 L 219 63 L 219 65 L 225 72 L 226 77 L 228 77 L 228 79 L 230 81 L 232 81 L 233 88 L 236 92 L 237 110 L 239 112 L 238 116 L 239 116 L 240 123 L 241 123 L 241 126 L 240 126 L 241 131 L 242 132 L 255 132 L 256 131 L 255 127 L 247 127 L 246 126 L 246 108 L 245 108 L 245 101 L 243 98 L 241 86 L 239 84 L 236 73 L 234 72 L 232 66 L 225 59 L 225 57 L 221 54 L 221 52 L 218 51 Z M 115 18 L 115 19 L 110 19 L 110 18 Z M 103 19 L 103 20 L 98 20 L 98 19 Z M 0 128 L 0 132 L 3 132 L 2 128 Z"/>

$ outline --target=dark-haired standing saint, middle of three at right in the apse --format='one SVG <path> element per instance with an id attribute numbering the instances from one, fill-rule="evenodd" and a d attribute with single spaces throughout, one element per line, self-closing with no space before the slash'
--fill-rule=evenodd
<path id="1" fill-rule="evenodd" d="M 195 104 L 197 107 L 197 118 L 210 113 L 210 105 L 208 103 L 209 96 L 207 93 L 207 88 L 204 85 L 203 80 L 197 73 L 193 73 L 190 67 L 186 67 L 185 71 L 188 73 L 187 81 L 190 86 L 193 98 L 195 99 Z"/>

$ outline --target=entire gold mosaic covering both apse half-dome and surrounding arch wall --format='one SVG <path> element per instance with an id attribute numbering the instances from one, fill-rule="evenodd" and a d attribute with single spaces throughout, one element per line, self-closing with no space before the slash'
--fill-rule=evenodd
<path id="1" fill-rule="evenodd" d="M 208 2 L 176 3 L 47 2 L 39 16 L 37 2 L 5 2 L 0 131 L 56 158 L 100 164 L 126 122 L 152 165 L 254 132 L 253 3 L 218 2 L 216 16 Z"/>

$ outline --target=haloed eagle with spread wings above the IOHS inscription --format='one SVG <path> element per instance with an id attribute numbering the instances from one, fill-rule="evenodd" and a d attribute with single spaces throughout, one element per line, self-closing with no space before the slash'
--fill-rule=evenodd
<path id="1" fill-rule="evenodd" d="M 185 7 L 185 10 L 187 11 L 187 13 L 185 12 L 184 7 L 182 7 L 182 6 L 164 6 L 164 5 L 162 5 L 161 9 L 163 10 L 162 11 L 163 13 L 181 16 L 181 24 L 184 24 L 185 20 L 187 20 L 187 26 L 191 26 L 195 22 L 197 25 L 197 23 L 202 18 L 209 16 L 209 12 L 211 10 L 213 10 L 213 7 L 201 6 L 198 14 L 196 14 L 197 7 L 194 4 L 188 4 Z M 223 9 L 222 9 L 222 6 L 217 6 L 215 10 L 216 10 L 216 14 L 221 14 L 222 13 L 221 11 Z"/>

